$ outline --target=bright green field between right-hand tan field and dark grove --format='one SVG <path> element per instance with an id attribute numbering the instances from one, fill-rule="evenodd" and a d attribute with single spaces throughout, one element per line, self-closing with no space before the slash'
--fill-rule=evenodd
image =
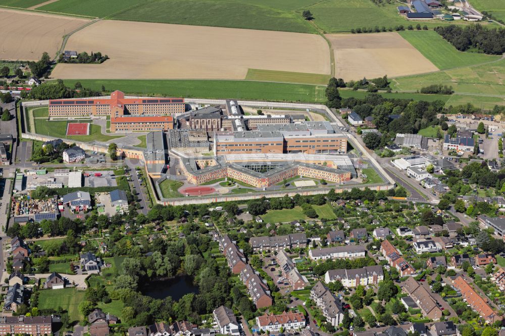
<path id="1" fill-rule="evenodd" d="M 406 30 L 399 34 L 440 70 L 466 67 L 500 58 L 483 53 L 459 51 L 433 30 Z"/>

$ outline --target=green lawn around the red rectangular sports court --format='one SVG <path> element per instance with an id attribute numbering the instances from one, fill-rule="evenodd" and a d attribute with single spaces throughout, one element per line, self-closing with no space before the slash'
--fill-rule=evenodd
<path id="1" fill-rule="evenodd" d="M 80 121 L 88 122 L 88 121 Z M 102 134 L 102 128 L 98 125 L 91 124 L 89 135 L 69 135 L 67 136 L 67 121 L 48 121 L 45 119 L 36 119 L 35 123 L 35 133 L 41 135 L 51 135 L 58 138 L 72 139 L 77 141 L 108 141 L 115 138 L 121 138 L 119 136 L 111 136 Z"/>

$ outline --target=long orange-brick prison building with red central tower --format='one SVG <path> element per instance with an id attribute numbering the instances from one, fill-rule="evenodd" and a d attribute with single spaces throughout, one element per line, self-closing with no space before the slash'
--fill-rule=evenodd
<path id="1" fill-rule="evenodd" d="M 79 98 L 49 100 L 49 118 L 78 116 L 176 115 L 184 113 L 183 98 L 125 98 L 114 91 L 110 98 Z"/>

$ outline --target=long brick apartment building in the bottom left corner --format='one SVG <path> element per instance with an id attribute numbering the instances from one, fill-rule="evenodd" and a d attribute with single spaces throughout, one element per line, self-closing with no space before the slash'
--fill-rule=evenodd
<path id="1" fill-rule="evenodd" d="M 51 335 L 51 316 L 0 316 L 0 335 Z"/>

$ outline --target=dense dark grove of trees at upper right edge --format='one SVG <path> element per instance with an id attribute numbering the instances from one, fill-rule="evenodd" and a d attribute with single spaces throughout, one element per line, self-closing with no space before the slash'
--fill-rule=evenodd
<path id="1" fill-rule="evenodd" d="M 476 49 L 491 55 L 500 55 L 505 52 L 505 29 L 503 28 L 486 29 L 480 24 L 464 28 L 450 25 L 436 27 L 435 31 L 460 51 Z"/>

